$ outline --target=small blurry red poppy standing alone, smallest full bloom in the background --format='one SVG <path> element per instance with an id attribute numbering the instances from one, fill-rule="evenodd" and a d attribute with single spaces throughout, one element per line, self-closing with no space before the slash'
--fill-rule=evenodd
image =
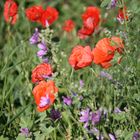
<path id="1" fill-rule="evenodd" d="M 75 23 L 71 19 L 69 19 L 65 21 L 63 30 L 65 30 L 66 32 L 71 32 L 74 29 L 74 27 Z"/>

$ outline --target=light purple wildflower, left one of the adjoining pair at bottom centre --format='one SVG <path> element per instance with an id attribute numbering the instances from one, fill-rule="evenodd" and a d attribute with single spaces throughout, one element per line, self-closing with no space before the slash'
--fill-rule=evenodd
<path id="1" fill-rule="evenodd" d="M 87 108 L 86 110 L 81 111 L 80 114 L 81 117 L 79 121 L 85 123 L 84 128 L 87 128 L 88 121 L 90 120 L 90 109 Z"/>

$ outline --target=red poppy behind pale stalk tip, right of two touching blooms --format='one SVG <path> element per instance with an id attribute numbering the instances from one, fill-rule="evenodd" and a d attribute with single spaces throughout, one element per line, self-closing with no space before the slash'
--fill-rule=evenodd
<path id="1" fill-rule="evenodd" d="M 41 17 L 41 23 L 45 27 L 46 24 L 51 25 L 58 19 L 59 12 L 53 7 L 47 7 Z"/>

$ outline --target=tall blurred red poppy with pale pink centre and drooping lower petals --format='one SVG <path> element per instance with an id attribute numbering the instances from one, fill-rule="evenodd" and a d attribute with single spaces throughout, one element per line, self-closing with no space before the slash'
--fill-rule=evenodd
<path id="1" fill-rule="evenodd" d="M 81 39 L 84 36 L 91 35 L 97 28 L 100 22 L 100 10 L 97 7 L 89 6 L 86 11 L 82 14 L 83 27 L 78 31 L 78 35 Z"/>

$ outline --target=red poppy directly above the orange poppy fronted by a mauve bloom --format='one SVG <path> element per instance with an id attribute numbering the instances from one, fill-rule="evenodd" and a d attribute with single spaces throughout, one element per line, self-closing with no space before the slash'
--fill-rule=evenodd
<path id="1" fill-rule="evenodd" d="M 52 74 L 52 67 L 50 64 L 42 63 L 36 66 L 32 71 L 32 82 L 36 83 L 44 80 L 47 76 Z"/>

